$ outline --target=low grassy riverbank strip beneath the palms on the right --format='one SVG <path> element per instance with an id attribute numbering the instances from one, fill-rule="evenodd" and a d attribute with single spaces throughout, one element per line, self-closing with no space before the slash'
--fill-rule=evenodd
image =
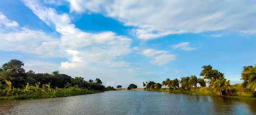
<path id="1" fill-rule="evenodd" d="M 159 91 L 159 92 L 170 92 L 170 93 L 181 93 L 181 94 L 191 94 L 191 95 L 209 95 L 209 96 L 218 96 L 218 97 L 231 97 L 231 98 L 237 98 L 237 99 L 250 99 L 250 100 L 256 100 L 256 97 L 239 97 L 239 96 L 228 96 L 228 95 L 224 95 L 224 96 L 220 96 L 217 94 L 214 94 L 211 91 L 204 91 L 205 93 L 203 93 L 202 91 L 200 91 L 200 89 L 193 89 L 191 91 L 180 91 L 180 90 L 170 90 L 169 88 L 161 88 L 161 89 L 147 89 L 146 91 Z"/>

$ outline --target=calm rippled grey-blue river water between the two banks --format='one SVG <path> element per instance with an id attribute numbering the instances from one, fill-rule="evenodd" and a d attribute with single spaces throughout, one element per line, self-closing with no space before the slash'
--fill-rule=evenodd
<path id="1" fill-rule="evenodd" d="M 0 115 L 256 115 L 256 101 L 155 91 L 0 100 Z"/>

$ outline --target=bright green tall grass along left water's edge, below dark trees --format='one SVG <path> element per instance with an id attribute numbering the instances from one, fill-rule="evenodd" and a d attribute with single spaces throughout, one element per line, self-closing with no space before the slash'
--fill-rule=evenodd
<path id="1" fill-rule="evenodd" d="M 100 91 L 90 91 L 88 89 L 73 86 L 70 88 L 50 88 L 50 84 L 43 84 L 42 88 L 38 84 L 36 86 L 24 86 L 24 88 L 14 88 L 8 85 L 4 89 L 0 89 L 0 100 L 20 100 L 31 98 L 53 98 L 74 95 L 85 95 L 99 93 Z"/>

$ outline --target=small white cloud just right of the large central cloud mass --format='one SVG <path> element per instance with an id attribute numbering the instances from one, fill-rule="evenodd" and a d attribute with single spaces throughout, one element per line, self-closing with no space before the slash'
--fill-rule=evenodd
<path id="1" fill-rule="evenodd" d="M 147 57 L 154 58 L 154 60 L 150 62 L 157 65 L 167 64 L 175 60 L 175 55 L 168 53 L 169 51 L 157 51 L 155 49 L 146 49 L 143 51 L 143 54 Z"/>

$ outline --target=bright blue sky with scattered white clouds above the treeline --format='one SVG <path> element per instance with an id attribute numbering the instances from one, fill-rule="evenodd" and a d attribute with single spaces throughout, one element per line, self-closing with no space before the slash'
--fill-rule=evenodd
<path id="1" fill-rule="evenodd" d="M 0 0 L 0 65 L 103 85 L 200 76 L 241 83 L 256 64 L 255 0 Z"/>

